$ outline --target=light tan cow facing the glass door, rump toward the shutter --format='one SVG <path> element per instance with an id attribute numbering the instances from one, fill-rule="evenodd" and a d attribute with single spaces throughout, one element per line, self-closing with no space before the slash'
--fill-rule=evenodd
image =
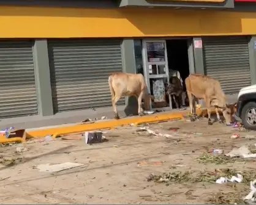
<path id="1" fill-rule="evenodd" d="M 119 119 L 116 103 L 122 96 L 136 96 L 138 99 L 138 115 L 143 115 L 141 101 L 144 99 L 144 106 L 149 110 L 149 103 L 152 97 L 148 94 L 145 79 L 142 74 L 113 73 L 108 77 L 114 118 Z"/>

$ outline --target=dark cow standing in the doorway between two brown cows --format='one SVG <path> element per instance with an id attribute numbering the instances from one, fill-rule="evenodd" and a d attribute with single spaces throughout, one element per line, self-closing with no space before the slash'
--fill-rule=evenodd
<path id="1" fill-rule="evenodd" d="M 183 85 L 181 80 L 177 76 L 170 77 L 170 83 L 167 86 L 168 95 L 173 98 L 176 104 L 176 108 L 182 107 L 182 95 L 183 95 Z"/>

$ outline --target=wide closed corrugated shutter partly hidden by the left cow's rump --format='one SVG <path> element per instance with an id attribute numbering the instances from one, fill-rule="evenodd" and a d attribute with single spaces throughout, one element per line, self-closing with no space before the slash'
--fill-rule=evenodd
<path id="1" fill-rule="evenodd" d="M 48 47 L 55 112 L 112 105 L 108 76 L 122 71 L 121 40 L 49 40 Z"/>

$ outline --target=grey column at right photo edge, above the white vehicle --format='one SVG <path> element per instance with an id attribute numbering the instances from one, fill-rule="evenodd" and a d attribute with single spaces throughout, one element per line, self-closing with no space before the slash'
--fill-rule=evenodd
<path id="1" fill-rule="evenodd" d="M 249 37 L 250 83 L 256 84 L 256 36 Z"/>

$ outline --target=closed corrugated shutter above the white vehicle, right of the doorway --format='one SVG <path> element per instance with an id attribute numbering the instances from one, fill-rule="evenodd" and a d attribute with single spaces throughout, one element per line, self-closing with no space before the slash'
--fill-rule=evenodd
<path id="1" fill-rule="evenodd" d="M 203 38 L 206 74 L 219 80 L 226 94 L 250 85 L 247 37 Z"/>

